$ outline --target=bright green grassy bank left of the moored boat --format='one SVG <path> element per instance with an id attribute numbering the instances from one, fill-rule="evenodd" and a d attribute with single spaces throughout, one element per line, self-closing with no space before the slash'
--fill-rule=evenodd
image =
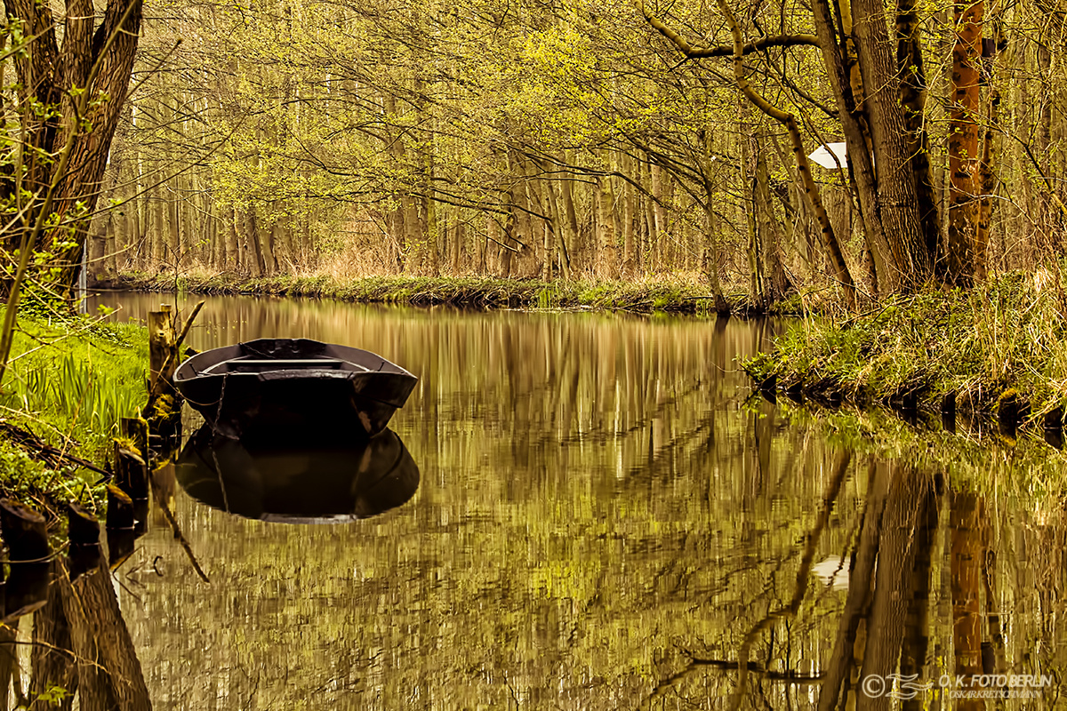
<path id="1" fill-rule="evenodd" d="M 145 398 L 147 335 L 143 326 L 54 314 L 20 314 L 0 393 L 0 496 L 27 501 L 102 496 L 100 476 L 52 452 L 102 465 L 118 421 Z M 18 433 L 32 433 L 28 439 Z"/>

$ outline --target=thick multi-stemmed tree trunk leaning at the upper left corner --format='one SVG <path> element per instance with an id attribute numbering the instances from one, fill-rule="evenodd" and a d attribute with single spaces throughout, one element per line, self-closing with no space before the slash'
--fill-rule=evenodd
<path id="1" fill-rule="evenodd" d="M 17 83 L 0 93 L 7 127 L 0 157 L 7 292 L 0 377 L 31 268 L 44 289 L 64 293 L 74 284 L 129 88 L 142 4 L 111 0 L 98 17 L 93 0 L 67 0 L 61 15 L 47 1 L 4 0 L 0 77 L 13 63 Z"/>

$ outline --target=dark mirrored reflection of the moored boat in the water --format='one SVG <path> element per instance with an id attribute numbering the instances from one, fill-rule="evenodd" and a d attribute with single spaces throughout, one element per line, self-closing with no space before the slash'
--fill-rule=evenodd
<path id="1" fill-rule="evenodd" d="M 204 425 L 176 466 L 194 499 L 262 521 L 344 523 L 415 495 L 418 467 L 392 430 L 347 446 L 251 447 Z"/>

